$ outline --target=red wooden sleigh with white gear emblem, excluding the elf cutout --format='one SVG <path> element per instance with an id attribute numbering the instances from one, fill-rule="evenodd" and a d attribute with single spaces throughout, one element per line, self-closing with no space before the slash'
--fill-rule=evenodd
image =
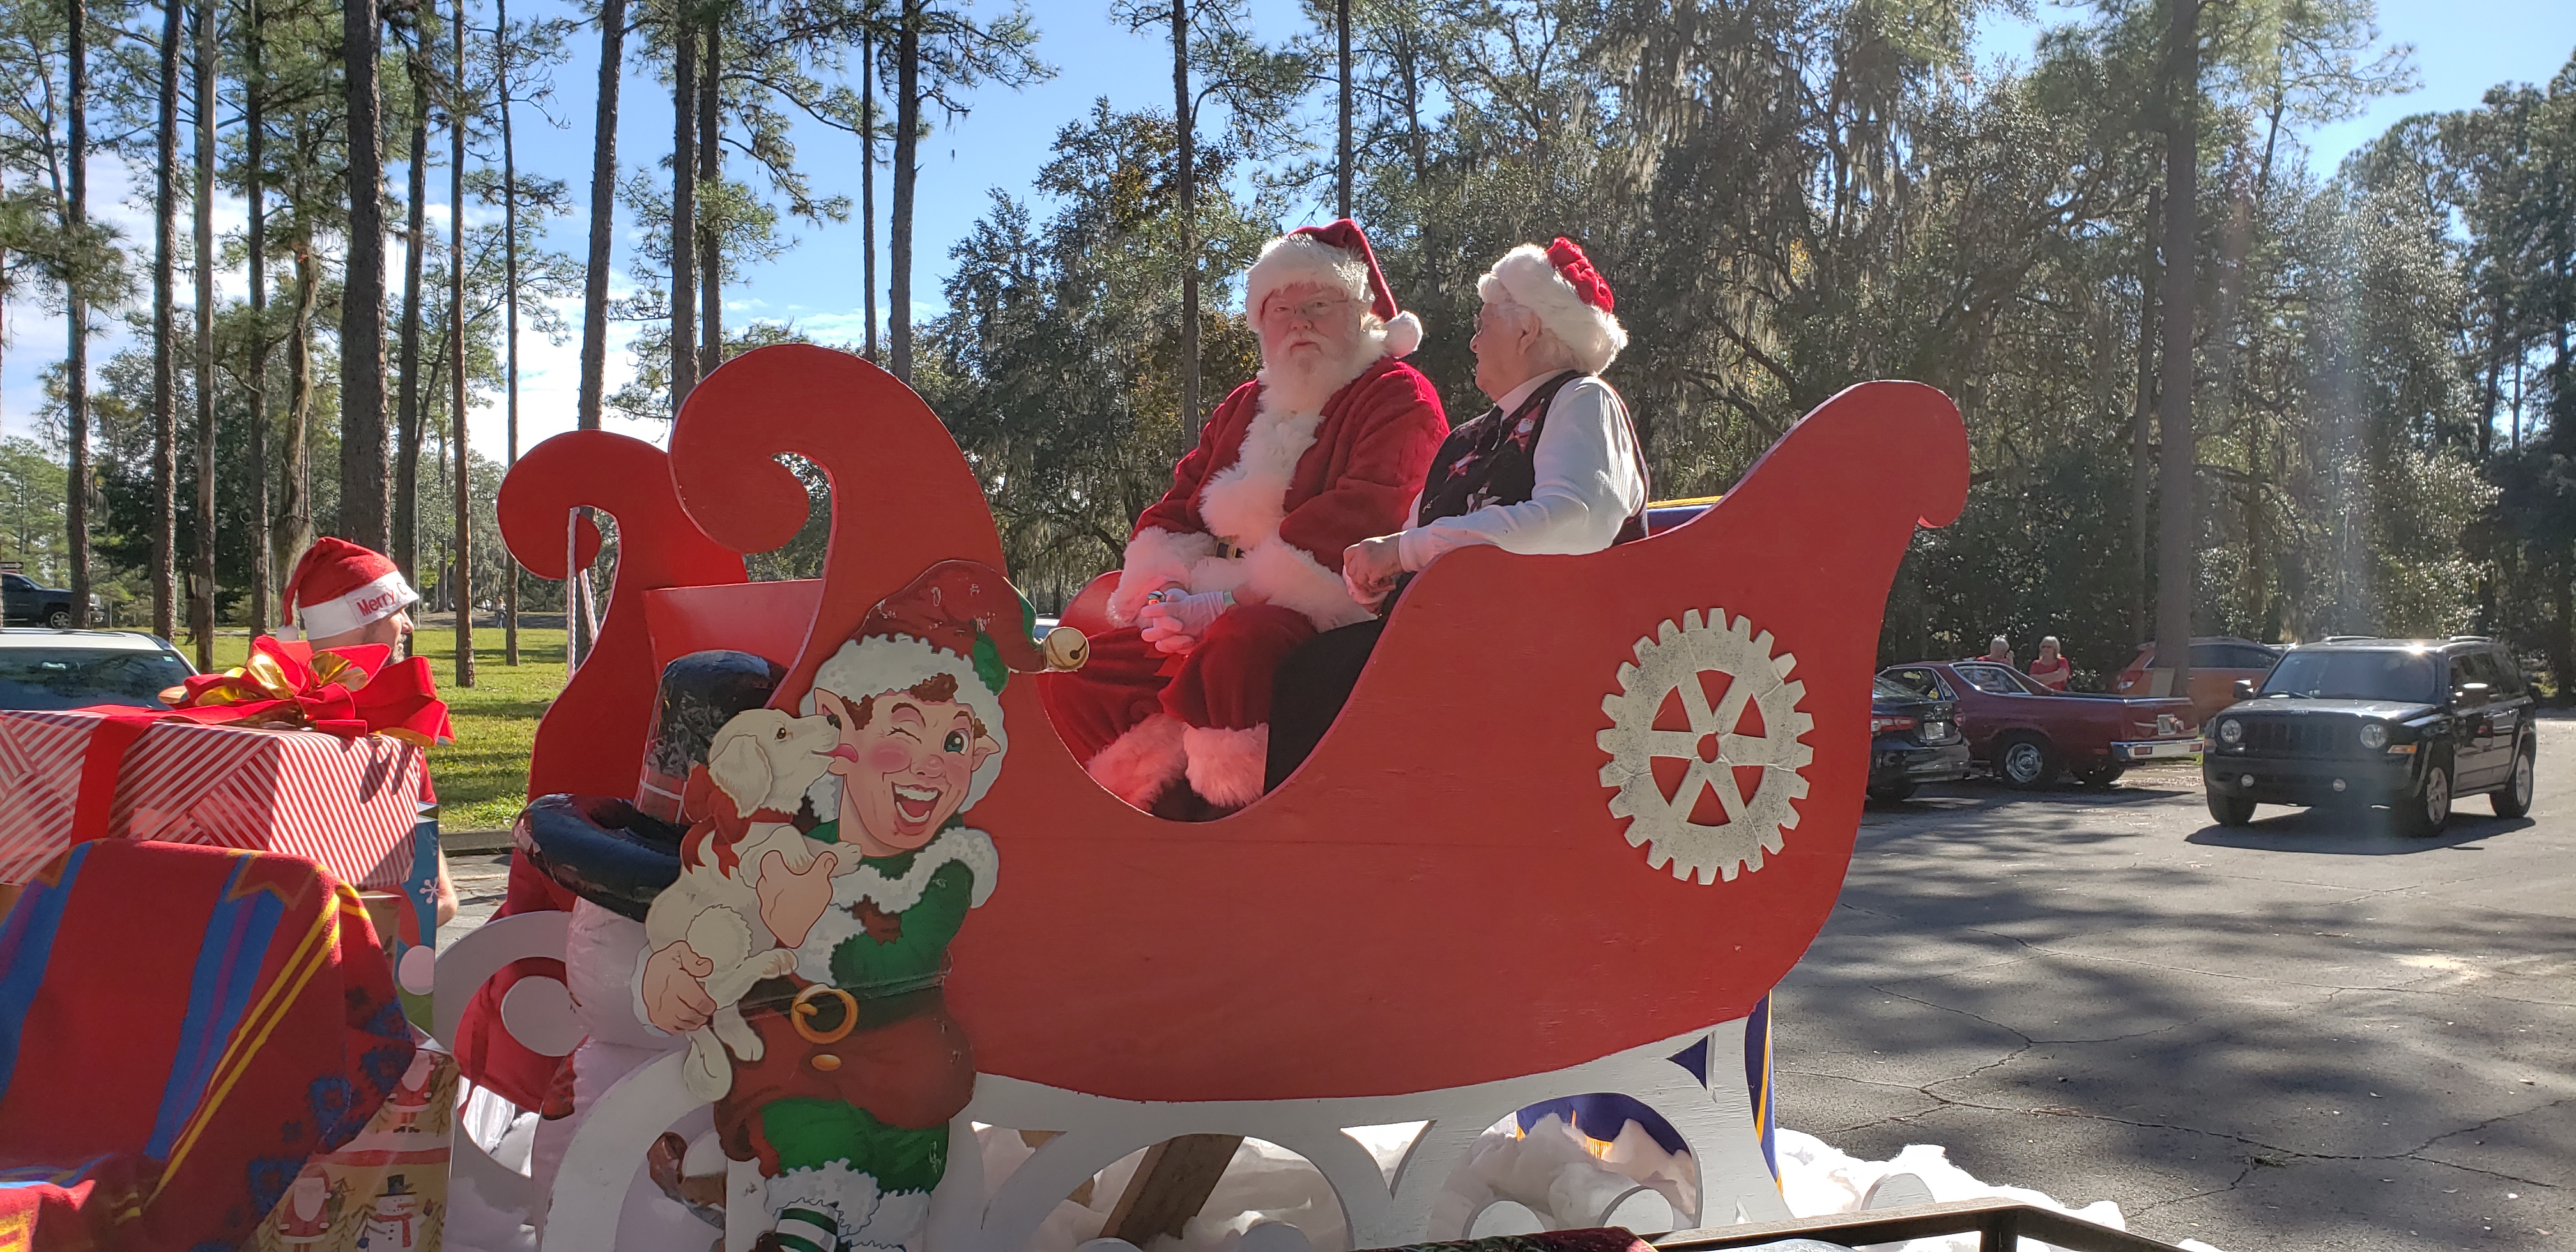
<path id="1" fill-rule="evenodd" d="M 667 459 L 703 531 L 685 541 L 791 538 L 806 492 L 781 453 L 829 477 L 824 577 L 693 587 L 621 567 L 600 649 L 649 641 L 652 662 L 618 670 L 639 685 L 618 708 L 706 649 L 783 665 L 773 706 L 791 708 L 868 605 L 938 562 L 999 569 L 938 417 L 819 348 L 747 353 L 690 394 Z M 1744 1018 L 1839 894 L 1886 590 L 1965 479 L 1940 392 L 1862 384 L 1698 520 L 1589 556 L 1455 551 L 1414 580 L 1309 763 L 1218 822 L 1162 822 L 1097 788 L 1036 685 L 1010 680 L 1007 768 L 963 814 L 999 873 L 951 945 L 945 1000 L 976 1069 L 953 1133 L 1061 1133 L 999 1180 L 961 1141 L 930 1244 L 1025 1247 L 1084 1177 L 1177 1133 L 1303 1154 L 1358 1247 L 1455 1237 L 1427 1224 L 1473 1139 L 1582 1092 L 1631 1095 L 1690 1144 L 1698 1203 L 1677 1221 L 1780 1213 L 1736 1064 Z M 608 701 L 569 690 L 546 724 Z M 636 1146 L 696 1108 L 677 1054 L 595 1100 L 546 1247 L 613 1247 L 631 1193 L 652 1193 Z M 1425 1123 L 1391 1170 L 1340 1133 L 1386 1123 Z M 744 1170 L 737 1195 L 757 1185 Z M 729 1206 L 729 1247 L 750 1244 L 744 1208 Z"/>

